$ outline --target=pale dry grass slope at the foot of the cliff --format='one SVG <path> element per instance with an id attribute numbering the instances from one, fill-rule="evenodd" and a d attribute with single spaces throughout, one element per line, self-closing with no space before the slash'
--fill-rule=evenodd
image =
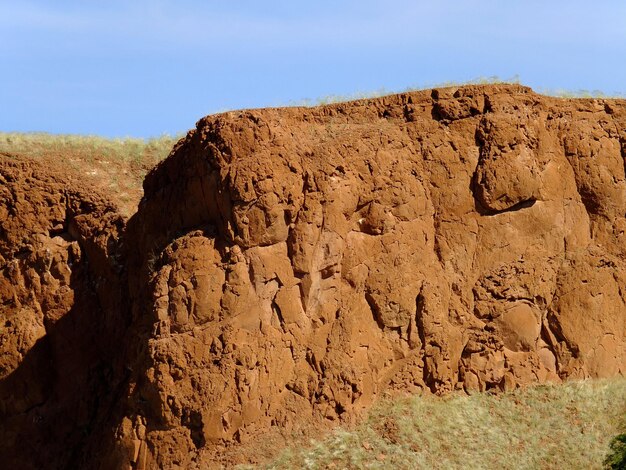
<path id="1" fill-rule="evenodd" d="M 415 396 L 385 401 L 354 429 L 287 449 L 262 468 L 603 468 L 625 426 L 625 378 Z"/>

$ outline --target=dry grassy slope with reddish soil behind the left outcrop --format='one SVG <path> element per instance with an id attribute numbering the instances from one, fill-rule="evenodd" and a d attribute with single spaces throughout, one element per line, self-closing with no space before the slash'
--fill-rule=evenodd
<path id="1" fill-rule="evenodd" d="M 97 136 L 0 132 L 0 153 L 61 165 L 90 181 L 126 216 L 143 195 L 143 178 L 163 160 L 178 137 L 106 139 Z"/>

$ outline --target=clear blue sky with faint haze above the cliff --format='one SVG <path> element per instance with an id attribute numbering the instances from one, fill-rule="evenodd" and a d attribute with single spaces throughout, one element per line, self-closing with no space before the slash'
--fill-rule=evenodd
<path id="1" fill-rule="evenodd" d="M 626 2 L 0 0 L 0 131 L 151 137 L 494 75 L 626 94 Z"/>

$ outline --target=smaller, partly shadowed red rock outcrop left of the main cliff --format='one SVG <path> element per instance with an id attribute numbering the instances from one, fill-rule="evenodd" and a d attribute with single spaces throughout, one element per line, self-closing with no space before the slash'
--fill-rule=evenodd
<path id="1" fill-rule="evenodd" d="M 111 347 L 129 323 L 123 231 L 115 206 L 75 178 L 0 158 L 3 467 L 75 468 L 123 396 Z"/>

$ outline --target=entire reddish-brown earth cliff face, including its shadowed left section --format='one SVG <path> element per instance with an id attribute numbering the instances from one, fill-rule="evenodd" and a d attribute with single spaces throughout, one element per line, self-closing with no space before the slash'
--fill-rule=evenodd
<path id="1" fill-rule="evenodd" d="M 258 462 L 394 391 L 626 373 L 626 102 L 517 85 L 200 120 L 126 222 L 0 160 L 0 460 Z"/>

